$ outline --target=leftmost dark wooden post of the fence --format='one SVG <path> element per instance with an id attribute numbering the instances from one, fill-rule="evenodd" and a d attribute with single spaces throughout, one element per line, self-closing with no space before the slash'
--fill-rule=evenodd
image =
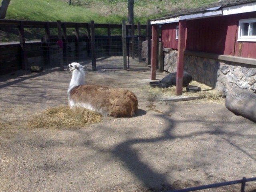
<path id="1" fill-rule="evenodd" d="M 28 58 L 26 54 L 26 44 L 24 35 L 24 22 L 21 21 L 19 25 L 19 36 L 20 36 L 20 55 L 21 55 L 21 68 L 23 70 L 27 69 Z"/>

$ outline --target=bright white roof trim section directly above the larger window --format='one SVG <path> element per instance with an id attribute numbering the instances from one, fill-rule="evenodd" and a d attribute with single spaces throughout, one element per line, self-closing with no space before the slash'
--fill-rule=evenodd
<path id="1" fill-rule="evenodd" d="M 223 15 L 253 12 L 253 11 L 256 11 L 256 3 L 254 2 L 254 3 L 231 6 L 231 7 L 225 7 L 222 10 L 223 10 Z"/>

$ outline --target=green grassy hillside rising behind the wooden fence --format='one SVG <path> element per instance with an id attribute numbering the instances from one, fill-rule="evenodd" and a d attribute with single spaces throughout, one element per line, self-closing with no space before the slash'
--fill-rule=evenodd
<path id="1" fill-rule="evenodd" d="M 6 19 L 120 24 L 127 20 L 128 0 L 11 0 Z M 218 0 L 134 0 L 135 23 Z"/>

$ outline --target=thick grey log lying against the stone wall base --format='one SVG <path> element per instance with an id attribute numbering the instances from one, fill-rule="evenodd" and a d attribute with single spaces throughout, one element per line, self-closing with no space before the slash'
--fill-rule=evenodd
<path id="1" fill-rule="evenodd" d="M 256 94 L 248 90 L 233 88 L 226 96 L 226 108 L 256 122 Z"/>

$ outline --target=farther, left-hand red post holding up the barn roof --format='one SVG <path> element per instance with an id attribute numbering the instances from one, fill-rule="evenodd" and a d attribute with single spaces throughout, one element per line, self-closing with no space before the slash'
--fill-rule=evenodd
<path id="1" fill-rule="evenodd" d="M 155 80 L 157 65 L 157 24 L 152 25 L 151 80 Z"/>

